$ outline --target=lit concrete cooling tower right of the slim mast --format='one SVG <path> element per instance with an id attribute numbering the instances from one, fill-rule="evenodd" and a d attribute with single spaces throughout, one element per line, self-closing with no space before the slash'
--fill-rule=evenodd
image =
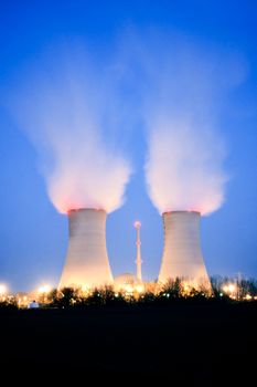
<path id="1" fill-rule="evenodd" d="M 164 212 L 162 218 L 164 249 L 158 281 L 180 278 L 211 287 L 201 250 L 200 212 Z"/>

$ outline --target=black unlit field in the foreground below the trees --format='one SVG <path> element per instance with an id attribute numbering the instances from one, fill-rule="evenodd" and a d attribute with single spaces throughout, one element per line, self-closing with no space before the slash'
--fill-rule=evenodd
<path id="1" fill-rule="evenodd" d="M 1 369 L 141 373 L 206 383 L 257 370 L 254 302 L 0 311 L 0 330 Z"/>

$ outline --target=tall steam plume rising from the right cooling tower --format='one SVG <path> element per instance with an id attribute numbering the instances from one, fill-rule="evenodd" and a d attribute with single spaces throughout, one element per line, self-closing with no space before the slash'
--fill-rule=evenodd
<path id="1" fill-rule="evenodd" d="M 170 36 L 171 38 L 171 36 Z M 160 213 L 208 215 L 225 199 L 226 146 L 218 116 L 229 88 L 242 82 L 240 59 L 165 36 L 144 45 L 150 92 L 144 95 L 148 130 L 146 180 Z M 157 54 L 158 52 L 158 54 Z"/>

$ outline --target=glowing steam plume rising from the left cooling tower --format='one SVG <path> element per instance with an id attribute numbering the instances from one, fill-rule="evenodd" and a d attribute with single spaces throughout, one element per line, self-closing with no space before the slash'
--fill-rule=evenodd
<path id="1" fill-rule="evenodd" d="M 24 82 L 17 87 L 15 101 L 11 98 L 60 212 L 114 211 L 124 202 L 131 171 L 121 147 L 113 140 L 120 123 L 109 117 L 115 101 L 111 66 L 88 57 L 81 48 L 55 46 L 25 66 Z"/>

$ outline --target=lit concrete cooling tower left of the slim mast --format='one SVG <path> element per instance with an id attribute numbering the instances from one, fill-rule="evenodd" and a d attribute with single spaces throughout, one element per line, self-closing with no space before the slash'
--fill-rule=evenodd
<path id="1" fill-rule="evenodd" d="M 58 287 L 103 286 L 113 283 L 106 248 L 106 212 L 68 212 L 68 249 Z"/>

